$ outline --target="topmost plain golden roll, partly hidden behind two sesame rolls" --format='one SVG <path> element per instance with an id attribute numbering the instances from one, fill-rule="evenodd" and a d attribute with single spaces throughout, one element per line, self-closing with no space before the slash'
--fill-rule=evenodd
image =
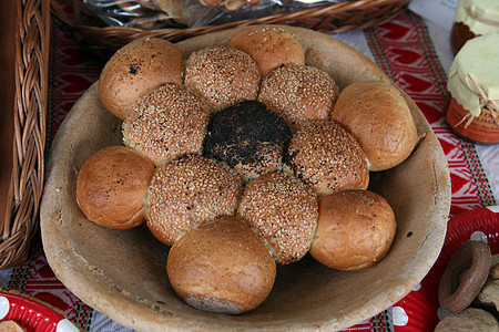
<path id="1" fill-rule="evenodd" d="M 263 77 L 282 64 L 305 64 L 302 43 L 293 33 L 279 27 L 242 29 L 228 41 L 228 46 L 249 54 Z"/>

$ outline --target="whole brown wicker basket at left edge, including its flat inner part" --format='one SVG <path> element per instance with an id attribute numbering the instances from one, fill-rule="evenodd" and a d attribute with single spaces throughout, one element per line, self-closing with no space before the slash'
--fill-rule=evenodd
<path id="1" fill-rule="evenodd" d="M 48 102 L 50 2 L 9 0 L 2 15 L 2 111 L 0 181 L 0 269 L 29 258 L 39 227 L 43 190 Z M 6 28 L 7 30 L 3 30 Z M 7 73 L 6 72 L 10 72 Z M 6 83 L 7 82 L 7 83 Z M 10 145 L 8 148 L 6 145 Z"/>

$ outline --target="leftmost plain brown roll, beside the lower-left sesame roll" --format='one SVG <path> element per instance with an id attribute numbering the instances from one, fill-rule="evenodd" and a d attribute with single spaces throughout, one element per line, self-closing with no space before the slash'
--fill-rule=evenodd
<path id="1" fill-rule="evenodd" d="M 154 165 L 124 146 L 105 147 L 80 168 L 77 201 L 100 226 L 129 229 L 145 220 L 145 196 Z"/>

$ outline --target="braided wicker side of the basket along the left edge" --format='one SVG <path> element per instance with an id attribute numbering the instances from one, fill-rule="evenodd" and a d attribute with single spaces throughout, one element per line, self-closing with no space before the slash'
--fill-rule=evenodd
<path id="1" fill-rule="evenodd" d="M 13 190 L 8 197 L 10 209 L 2 222 L 0 269 L 28 260 L 30 242 L 39 227 L 43 190 L 50 3 L 49 0 L 16 2 Z"/>

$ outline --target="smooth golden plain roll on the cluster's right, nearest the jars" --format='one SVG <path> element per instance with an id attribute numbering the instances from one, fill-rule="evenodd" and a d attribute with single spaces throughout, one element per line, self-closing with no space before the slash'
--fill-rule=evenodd
<path id="1" fill-rule="evenodd" d="M 356 82 L 338 96 L 332 120 L 344 125 L 366 154 L 369 170 L 403 163 L 418 141 L 416 125 L 400 92 L 383 82 Z"/>

